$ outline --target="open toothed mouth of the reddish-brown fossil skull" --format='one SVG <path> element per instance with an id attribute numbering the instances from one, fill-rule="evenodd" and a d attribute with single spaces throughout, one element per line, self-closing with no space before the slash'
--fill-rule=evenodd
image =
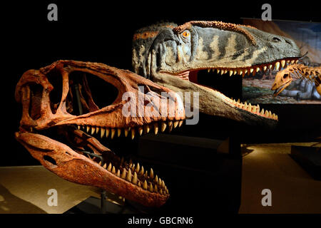
<path id="1" fill-rule="evenodd" d="M 172 125 L 169 124 L 171 127 L 168 127 L 167 124 L 166 128 L 169 128 L 168 130 L 179 128 L 182 123 L 183 120 L 173 122 Z M 128 185 L 135 185 L 142 191 L 168 197 L 169 192 L 164 180 L 158 177 L 153 168 L 146 169 L 139 162 L 129 159 L 128 155 L 128 151 L 136 147 L 140 135 L 157 134 L 158 131 L 165 131 L 164 124 L 153 123 L 123 129 L 97 128 L 88 125 L 60 125 L 47 130 L 33 130 L 33 133 L 40 133 L 66 143 L 75 152 L 83 155 L 84 160 L 95 162 L 99 165 L 99 169 L 103 169 L 103 172 L 109 172 L 109 175 L 120 178 Z M 134 137 L 136 134 L 138 137 Z M 48 161 L 51 162 L 51 160 Z"/>

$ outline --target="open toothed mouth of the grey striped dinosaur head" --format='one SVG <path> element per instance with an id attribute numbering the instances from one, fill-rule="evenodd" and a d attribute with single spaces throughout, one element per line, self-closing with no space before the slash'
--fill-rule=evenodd
<path id="1" fill-rule="evenodd" d="M 272 120 L 278 120 L 278 116 L 275 113 L 272 113 L 270 110 L 260 109 L 259 105 L 252 105 L 251 103 L 240 102 L 240 99 L 235 100 L 233 98 L 228 98 L 227 95 L 224 95 L 221 88 L 215 88 L 215 83 L 210 83 L 213 78 L 230 78 L 232 76 L 254 76 L 255 73 L 260 71 L 280 71 L 281 68 L 285 68 L 287 65 L 297 63 L 298 58 L 286 58 L 282 60 L 277 60 L 272 63 L 264 63 L 256 66 L 250 66 L 246 68 L 198 68 L 189 71 L 183 71 L 178 73 L 178 77 L 183 80 L 188 80 L 192 83 L 198 84 L 205 88 L 213 90 L 213 93 L 218 93 L 226 103 L 232 105 L 235 108 L 245 110 L 254 115 L 259 115 L 263 118 L 269 118 Z M 226 85 L 226 84 L 225 84 Z M 226 88 L 226 86 L 225 86 Z"/>

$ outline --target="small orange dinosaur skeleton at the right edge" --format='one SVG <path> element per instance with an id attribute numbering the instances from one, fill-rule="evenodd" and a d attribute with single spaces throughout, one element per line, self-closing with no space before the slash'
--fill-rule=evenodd
<path id="1" fill-rule="evenodd" d="M 275 90 L 274 95 L 279 95 L 282 90 L 285 90 L 287 86 L 290 86 L 292 82 L 292 76 L 296 79 L 306 78 L 307 80 L 315 83 L 317 93 L 321 95 L 321 67 L 305 66 L 303 64 L 293 64 L 287 66 L 282 71 L 277 72 L 275 81 L 271 90 Z"/>

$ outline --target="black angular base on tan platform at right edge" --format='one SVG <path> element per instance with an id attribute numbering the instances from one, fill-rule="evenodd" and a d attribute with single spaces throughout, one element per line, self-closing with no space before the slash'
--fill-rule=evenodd
<path id="1" fill-rule="evenodd" d="M 290 157 L 299 163 L 315 180 L 321 180 L 320 147 L 292 145 Z"/>

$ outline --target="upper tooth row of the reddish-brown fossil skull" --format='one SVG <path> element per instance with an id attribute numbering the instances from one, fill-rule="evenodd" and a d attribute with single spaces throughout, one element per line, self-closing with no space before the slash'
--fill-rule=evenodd
<path id="1" fill-rule="evenodd" d="M 167 122 L 161 121 L 160 123 L 155 122 L 143 126 L 138 126 L 137 129 L 135 128 L 100 128 L 96 126 L 89 126 L 89 125 L 77 125 L 78 129 L 86 130 L 86 133 L 93 134 L 99 134 L 101 135 L 101 138 L 108 138 L 109 135 L 111 135 L 111 139 L 117 135 L 117 137 L 121 136 L 121 133 L 127 137 L 128 135 L 131 136 L 131 139 L 135 138 L 136 131 L 139 135 L 143 135 L 143 133 L 147 134 L 150 132 L 151 128 L 154 129 L 155 135 L 157 135 L 159 132 L 164 132 L 166 128 L 168 128 L 169 131 L 173 130 L 173 128 L 177 128 L 183 125 L 183 120 L 169 120 Z M 117 131 L 117 134 L 116 134 Z"/>

